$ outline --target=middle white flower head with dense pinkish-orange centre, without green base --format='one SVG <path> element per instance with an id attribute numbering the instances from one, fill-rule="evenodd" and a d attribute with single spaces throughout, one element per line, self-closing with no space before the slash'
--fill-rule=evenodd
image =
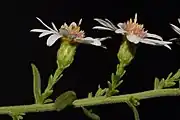
<path id="1" fill-rule="evenodd" d="M 108 19 L 102 20 L 95 18 L 94 20 L 103 26 L 95 26 L 93 29 L 110 30 L 117 34 L 125 35 L 127 40 L 134 44 L 145 43 L 150 45 L 165 46 L 171 49 L 168 44 L 172 44 L 172 42 L 163 41 L 162 37 L 159 35 L 148 33 L 147 30 L 144 30 L 143 25 L 137 23 L 137 14 L 135 14 L 134 21 L 130 19 L 125 23 L 118 23 L 118 27 L 113 25 L 113 23 Z"/>

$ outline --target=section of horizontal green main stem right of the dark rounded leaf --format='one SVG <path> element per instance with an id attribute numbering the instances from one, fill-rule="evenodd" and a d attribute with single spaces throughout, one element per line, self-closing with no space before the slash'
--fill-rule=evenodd
<path id="1" fill-rule="evenodd" d="M 95 97 L 95 98 L 85 98 L 75 100 L 73 105 L 75 107 L 81 106 L 94 106 L 101 104 L 114 104 L 114 103 L 123 103 L 129 101 L 130 97 L 137 98 L 138 100 L 155 98 L 155 97 L 163 97 L 163 96 L 180 96 L 180 89 L 159 89 L 159 90 L 149 90 L 145 92 L 126 94 L 126 95 L 118 95 L 111 97 Z"/>

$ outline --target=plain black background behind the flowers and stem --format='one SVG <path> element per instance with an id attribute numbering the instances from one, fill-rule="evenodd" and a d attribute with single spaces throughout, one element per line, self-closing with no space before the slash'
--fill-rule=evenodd
<path id="1" fill-rule="evenodd" d="M 9 15 L 11 24 L 3 41 L 1 63 L 0 105 L 21 105 L 34 102 L 32 92 L 32 71 L 34 63 L 42 77 L 42 89 L 47 85 L 48 76 L 56 69 L 56 51 L 60 42 L 52 47 L 46 46 L 47 37 L 38 38 L 30 33 L 33 28 L 44 28 L 35 17 L 41 18 L 50 25 L 53 21 L 59 28 L 64 22 L 70 24 L 83 18 L 81 29 L 87 36 L 113 39 L 104 41 L 107 50 L 91 45 L 81 44 L 76 52 L 73 64 L 64 71 L 63 78 L 54 86 L 55 99 L 67 90 L 74 90 L 78 98 L 87 97 L 88 92 L 95 92 L 100 84 L 107 86 L 112 72 L 116 70 L 118 59 L 116 53 L 121 42 L 121 35 L 112 32 L 97 31 L 91 28 L 97 23 L 93 18 L 108 18 L 114 24 L 125 22 L 138 13 L 138 22 L 145 24 L 150 33 L 155 33 L 168 40 L 178 37 L 169 23 L 179 25 L 177 18 L 180 8 L 177 0 L 39 0 L 17 1 Z M 180 25 L 179 25 L 180 26 Z M 9 34 L 11 33 L 11 34 Z M 5 44 L 7 43 L 7 44 Z M 166 77 L 170 72 L 180 68 L 180 46 L 171 45 L 172 51 L 165 47 L 140 44 L 135 59 L 127 68 L 121 94 L 134 93 L 153 89 L 155 77 Z M 141 120 L 179 120 L 180 97 L 164 97 L 142 100 L 138 107 Z M 133 113 L 126 104 L 103 105 L 94 108 L 102 120 L 133 120 Z M 1 115 L 2 120 L 11 120 Z M 67 108 L 61 112 L 29 113 L 24 120 L 86 120 L 81 109 Z"/>

